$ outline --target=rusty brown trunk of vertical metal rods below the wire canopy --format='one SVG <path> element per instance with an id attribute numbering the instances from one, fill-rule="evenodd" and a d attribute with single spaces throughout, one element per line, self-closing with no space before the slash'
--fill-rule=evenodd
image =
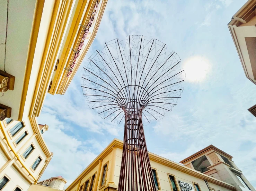
<path id="1" fill-rule="evenodd" d="M 136 113 L 125 111 L 124 146 L 118 190 L 156 191 L 145 142 L 141 109 Z"/>

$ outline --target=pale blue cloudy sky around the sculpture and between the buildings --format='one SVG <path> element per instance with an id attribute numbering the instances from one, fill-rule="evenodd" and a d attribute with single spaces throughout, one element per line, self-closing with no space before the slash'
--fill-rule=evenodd
<path id="1" fill-rule="evenodd" d="M 82 95 L 88 57 L 104 42 L 140 35 L 175 50 L 186 72 L 178 104 L 144 127 L 148 151 L 179 162 L 213 144 L 256 188 L 256 86 L 244 74 L 227 24 L 246 0 L 108 0 L 96 38 L 64 95 L 47 94 L 40 124 L 54 153 L 41 180 L 61 175 L 66 187 L 114 139 L 123 125 L 101 119 Z"/>

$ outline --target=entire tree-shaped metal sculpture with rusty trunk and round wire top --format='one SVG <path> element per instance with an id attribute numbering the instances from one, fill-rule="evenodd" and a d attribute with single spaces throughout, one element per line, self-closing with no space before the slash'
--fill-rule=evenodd
<path id="1" fill-rule="evenodd" d="M 124 121 L 119 191 L 156 191 L 142 121 L 171 111 L 184 80 L 179 56 L 156 39 L 114 39 L 90 56 L 82 76 L 89 107 L 104 119 Z"/>

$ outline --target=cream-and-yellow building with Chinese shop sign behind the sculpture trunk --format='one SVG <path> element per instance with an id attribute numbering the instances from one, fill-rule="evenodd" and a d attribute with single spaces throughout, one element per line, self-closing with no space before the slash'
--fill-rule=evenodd
<path id="1" fill-rule="evenodd" d="M 117 190 L 123 142 L 114 139 L 65 191 Z M 223 157 L 223 158 L 222 158 Z M 167 191 L 255 191 L 231 160 L 210 145 L 179 164 L 149 152 L 158 190 Z"/>

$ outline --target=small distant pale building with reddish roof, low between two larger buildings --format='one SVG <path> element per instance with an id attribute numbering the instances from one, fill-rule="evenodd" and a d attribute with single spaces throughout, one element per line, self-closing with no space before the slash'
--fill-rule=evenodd
<path id="1" fill-rule="evenodd" d="M 67 180 L 65 180 L 62 176 L 58 177 L 52 177 L 46 180 L 42 180 L 38 182 L 38 185 L 42 185 L 45 187 L 50 187 L 58 190 L 63 190 L 64 185 L 67 183 Z"/>

